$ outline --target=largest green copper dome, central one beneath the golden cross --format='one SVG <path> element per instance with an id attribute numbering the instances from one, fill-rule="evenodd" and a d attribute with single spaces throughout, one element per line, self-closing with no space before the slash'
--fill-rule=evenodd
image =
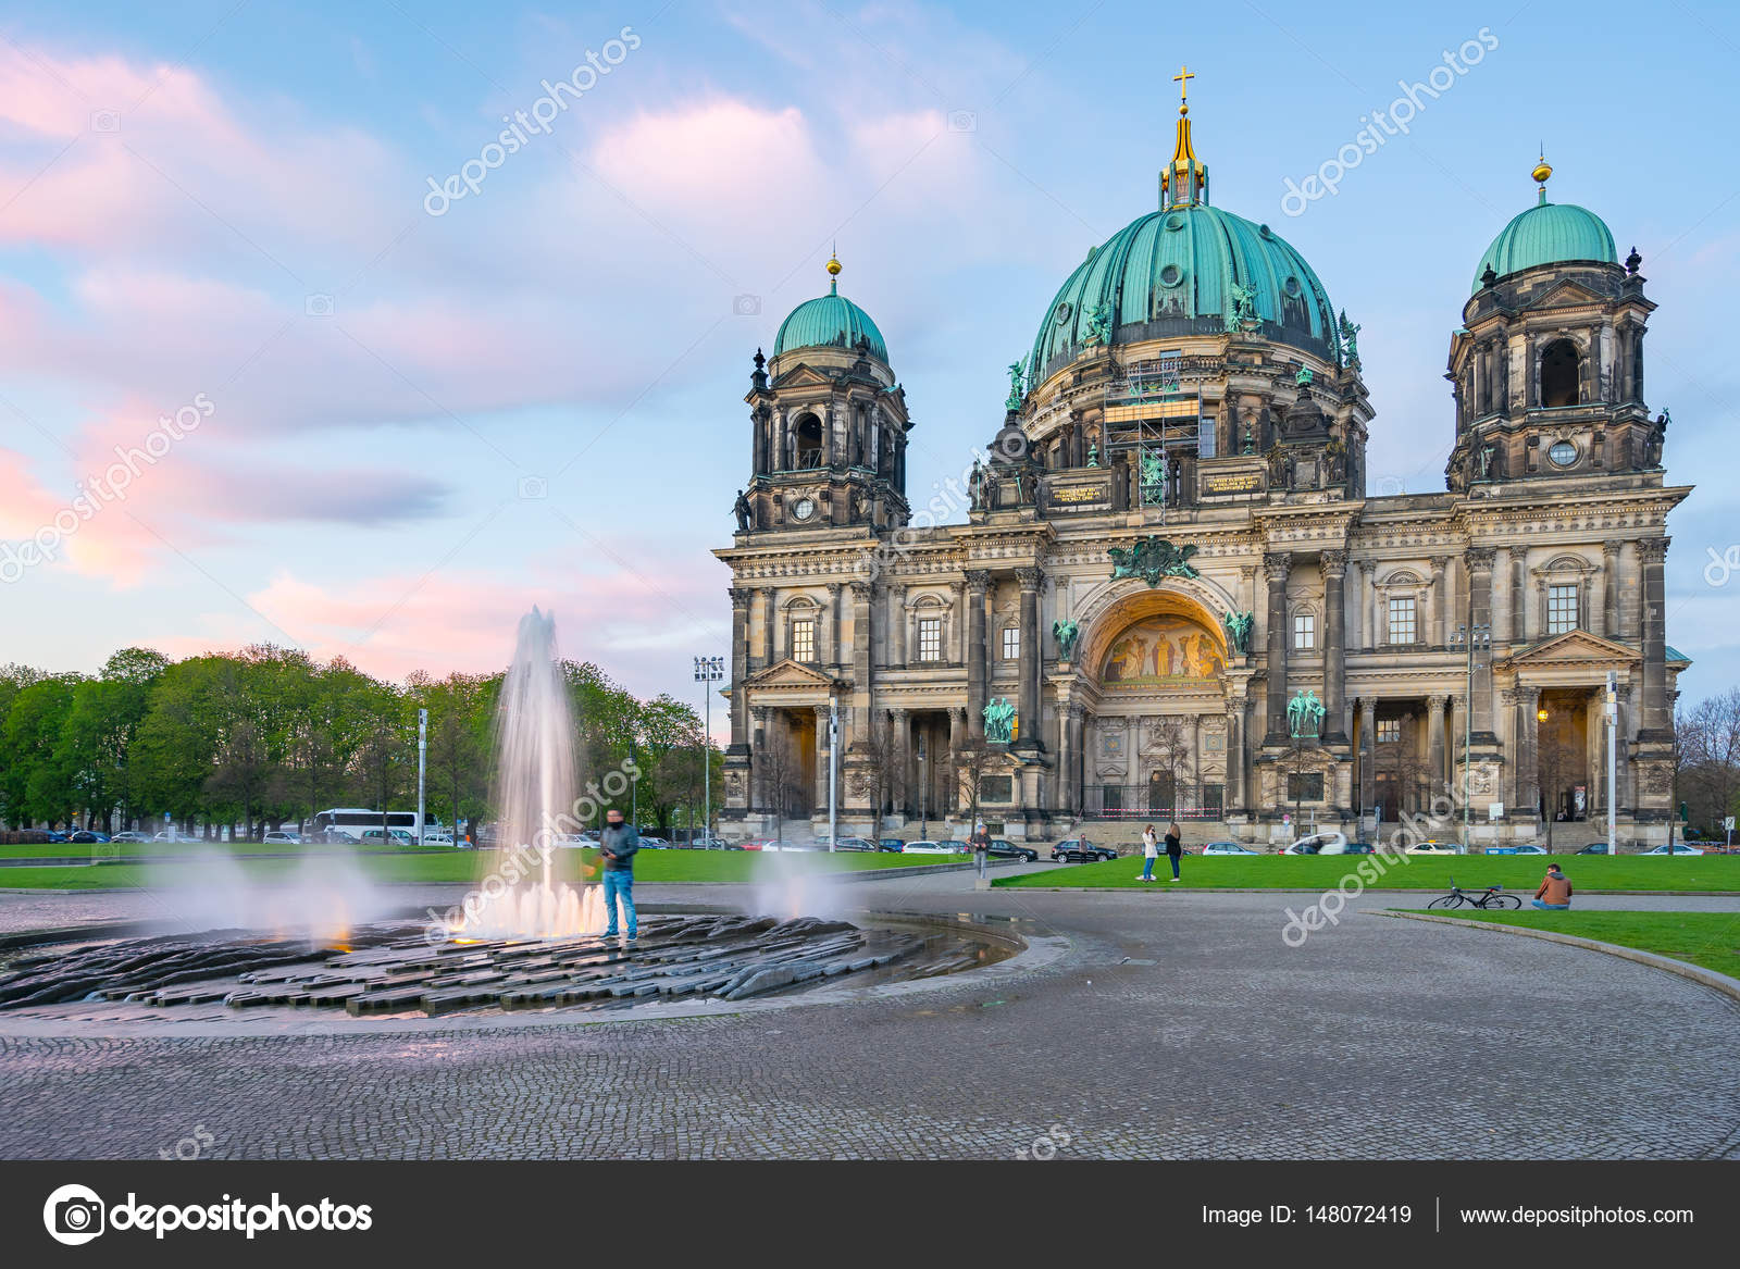
<path id="1" fill-rule="evenodd" d="M 1082 346 L 1101 303 L 1119 343 L 1216 334 L 1235 312 L 1234 284 L 1255 292 L 1267 338 L 1335 357 L 1335 308 L 1305 258 L 1267 225 L 1194 202 L 1148 212 L 1088 252 L 1039 326 L 1034 379 Z"/>

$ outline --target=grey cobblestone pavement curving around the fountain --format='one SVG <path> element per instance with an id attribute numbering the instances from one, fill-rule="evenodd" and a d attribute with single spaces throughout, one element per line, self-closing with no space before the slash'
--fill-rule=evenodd
<path id="1" fill-rule="evenodd" d="M 1058 1158 L 1740 1158 L 1740 1003 L 1690 980 L 1357 910 L 1288 949 L 1296 895 L 969 886 L 849 898 L 1023 917 L 1065 952 L 668 1022 L 0 1034 L 0 1156 L 157 1158 L 200 1126 L 212 1158 L 1016 1158 L 1042 1137 Z"/>

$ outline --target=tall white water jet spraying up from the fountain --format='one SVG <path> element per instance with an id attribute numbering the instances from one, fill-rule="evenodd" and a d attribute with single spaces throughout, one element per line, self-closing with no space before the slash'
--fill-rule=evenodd
<path id="1" fill-rule="evenodd" d="M 513 665 L 496 715 L 496 848 L 466 933 L 485 938 L 595 935 L 606 928 L 600 886 L 560 874 L 578 782 L 574 719 L 557 658 L 555 620 L 520 618 Z"/>

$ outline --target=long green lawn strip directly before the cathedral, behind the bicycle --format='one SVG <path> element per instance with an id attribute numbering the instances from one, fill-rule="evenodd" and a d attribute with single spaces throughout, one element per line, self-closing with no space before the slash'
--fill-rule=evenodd
<path id="1" fill-rule="evenodd" d="M 1390 862 L 1380 855 L 1187 855 L 1183 881 L 1171 881 L 1166 856 L 1154 876 L 1138 881 L 1141 858 L 1126 855 L 1108 863 L 1060 863 L 1020 877 L 999 877 L 995 886 L 1082 886 L 1108 890 L 1329 890 L 1343 877 L 1359 877 L 1375 890 L 1448 891 L 1455 876 L 1463 888 L 1505 886 L 1533 890 L 1547 872 L 1540 855 L 1415 855 Z M 1578 888 L 1589 890 L 1700 890 L 1740 891 L 1740 855 L 1688 855 L 1677 858 L 1620 855 L 1559 855 L 1559 865 Z M 1382 872 L 1378 869 L 1382 867 Z"/>

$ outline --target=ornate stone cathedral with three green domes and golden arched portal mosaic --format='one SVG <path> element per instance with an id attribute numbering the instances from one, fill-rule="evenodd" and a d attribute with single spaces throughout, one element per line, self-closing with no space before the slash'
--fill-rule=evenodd
<path id="1" fill-rule="evenodd" d="M 1178 818 L 1263 848 L 1448 801 L 1476 848 L 1604 839 L 1610 802 L 1622 849 L 1665 841 L 1688 661 L 1663 559 L 1690 487 L 1644 404 L 1643 261 L 1550 176 L 1470 272 L 1436 493 L 1369 487 L 1359 326 L 1211 202 L 1183 101 L 1159 207 L 1088 252 L 1009 367 L 964 524 L 908 491 L 907 392 L 830 259 L 755 353 L 715 552 L 724 836 L 825 830 L 832 775 L 861 836 Z"/>

